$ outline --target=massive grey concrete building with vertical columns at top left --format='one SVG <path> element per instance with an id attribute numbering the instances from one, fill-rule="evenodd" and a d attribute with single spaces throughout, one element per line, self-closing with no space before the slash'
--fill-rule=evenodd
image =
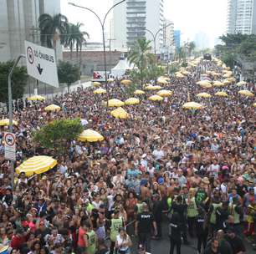
<path id="1" fill-rule="evenodd" d="M 60 0 L 0 0 L 0 61 L 24 53 L 24 40 L 39 43 L 38 17 L 60 13 Z M 61 48 L 57 46 L 57 56 Z"/>

